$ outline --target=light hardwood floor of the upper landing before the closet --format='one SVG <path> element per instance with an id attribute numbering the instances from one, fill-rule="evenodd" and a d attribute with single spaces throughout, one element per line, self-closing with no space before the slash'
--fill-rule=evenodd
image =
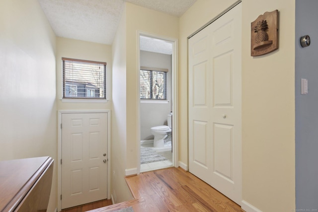
<path id="1" fill-rule="evenodd" d="M 135 199 L 90 212 L 243 212 L 229 198 L 181 168 L 166 168 L 126 177 Z"/>

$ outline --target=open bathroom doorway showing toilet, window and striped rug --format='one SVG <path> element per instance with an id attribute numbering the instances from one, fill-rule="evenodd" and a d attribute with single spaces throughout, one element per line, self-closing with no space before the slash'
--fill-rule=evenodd
<path id="1" fill-rule="evenodd" d="M 177 167 L 177 40 L 139 32 L 139 170 Z"/>

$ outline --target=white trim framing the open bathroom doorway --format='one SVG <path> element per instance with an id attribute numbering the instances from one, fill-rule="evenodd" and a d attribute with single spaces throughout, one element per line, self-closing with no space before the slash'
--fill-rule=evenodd
<path id="1" fill-rule="evenodd" d="M 155 38 L 155 39 L 160 39 L 164 41 L 168 41 L 172 44 L 172 55 L 171 55 L 171 99 L 172 99 L 172 165 L 174 167 L 178 167 L 179 162 L 178 162 L 178 61 L 177 61 L 177 54 L 178 54 L 178 39 L 176 38 L 171 38 L 171 37 L 166 37 L 166 36 L 161 36 L 161 35 L 156 35 L 156 34 L 151 34 L 148 32 L 143 32 L 143 31 L 137 31 L 137 70 L 138 70 L 138 76 L 140 76 L 140 36 L 146 36 L 150 38 Z M 138 78 L 138 89 L 137 92 L 140 94 L 140 77 Z M 138 161 L 138 166 L 137 166 L 137 174 L 140 174 L 140 141 L 141 141 L 141 135 L 140 135 L 140 130 L 141 130 L 141 121 L 140 121 L 140 100 L 137 101 L 137 161 Z"/>

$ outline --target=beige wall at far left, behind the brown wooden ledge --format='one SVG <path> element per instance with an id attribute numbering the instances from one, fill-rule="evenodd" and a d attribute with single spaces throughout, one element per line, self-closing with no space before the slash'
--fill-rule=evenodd
<path id="1" fill-rule="evenodd" d="M 0 160 L 56 160 L 55 34 L 38 0 L 0 0 L 0 31 Z"/>

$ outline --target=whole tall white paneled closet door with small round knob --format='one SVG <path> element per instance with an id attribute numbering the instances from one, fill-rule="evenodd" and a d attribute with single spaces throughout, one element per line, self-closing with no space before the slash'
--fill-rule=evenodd
<path id="1" fill-rule="evenodd" d="M 189 39 L 189 171 L 241 202 L 241 3 Z"/>

